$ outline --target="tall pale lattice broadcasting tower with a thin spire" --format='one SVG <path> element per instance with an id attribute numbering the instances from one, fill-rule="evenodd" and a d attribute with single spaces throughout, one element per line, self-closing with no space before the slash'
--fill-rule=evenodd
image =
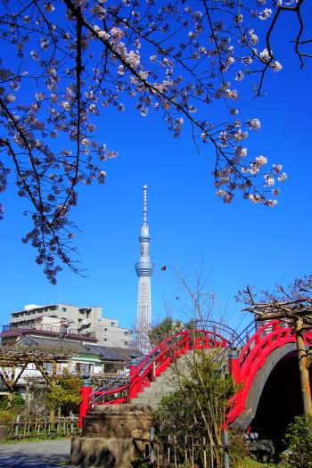
<path id="1" fill-rule="evenodd" d="M 147 226 L 147 185 L 143 187 L 143 225 L 140 242 L 140 259 L 135 263 L 139 278 L 137 297 L 135 341 L 137 349 L 146 354 L 151 350 L 148 332 L 152 326 L 151 276 L 154 265 L 150 260 L 151 237 Z"/>

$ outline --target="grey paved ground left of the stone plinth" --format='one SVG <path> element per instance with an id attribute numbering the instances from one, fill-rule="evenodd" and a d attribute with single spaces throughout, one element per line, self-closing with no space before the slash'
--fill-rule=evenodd
<path id="1" fill-rule="evenodd" d="M 70 467 L 70 439 L 0 444 L 1 468 Z"/>

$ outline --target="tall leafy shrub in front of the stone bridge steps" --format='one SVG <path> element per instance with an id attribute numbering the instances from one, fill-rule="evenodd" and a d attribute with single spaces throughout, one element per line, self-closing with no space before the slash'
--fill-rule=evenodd
<path id="1" fill-rule="evenodd" d="M 183 367 L 181 370 L 177 364 L 175 371 L 179 389 L 162 398 L 155 413 L 158 430 L 161 436 L 187 434 L 201 441 L 205 437 L 214 447 L 215 461 L 221 463 L 226 406 L 236 386 L 225 372 L 222 351 L 185 355 Z M 197 463 L 201 464 L 201 458 L 199 451 Z"/>

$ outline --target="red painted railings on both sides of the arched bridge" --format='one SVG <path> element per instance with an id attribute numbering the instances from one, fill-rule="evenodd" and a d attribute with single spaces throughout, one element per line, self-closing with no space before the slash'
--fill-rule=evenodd
<path id="1" fill-rule="evenodd" d="M 305 341 L 307 345 L 312 343 L 311 332 L 305 333 Z M 259 369 L 266 364 L 267 357 L 275 349 L 291 342 L 295 342 L 294 331 L 290 328 L 281 327 L 278 320 L 273 320 L 269 324 L 265 324 L 261 327 L 250 338 L 240 352 L 239 357 L 230 359 L 230 372 L 234 377 L 234 381 L 241 384 L 242 390 L 229 401 L 229 412 L 226 423 L 233 423 L 234 420 L 241 415 L 251 385 Z M 177 333 L 162 341 L 159 346 L 145 357 L 143 362 L 130 367 L 128 385 L 122 385 L 112 390 L 94 392 L 93 394 L 95 397 L 100 395 L 114 395 L 114 399 L 107 402 L 94 402 L 94 404 L 111 405 L 124 403 L 131 398 L 135 398 L 139 392 L 143 391 L 144 388 L 148 387 L 152 382 L 153 366 L 155 378 L 157 378 L 176 358 L 182 356 L 190 349 L 226 348 L 227 346 L 229 346 L 228 341 L 218 335 L 218 333 L 210 332 L 209 330 L 185 330 Z M 121 396 L 121 392 L 125 393 L 125 391 L 127 391 L 127 396 Z M 90 394 L 88 394 L 88 398 L 89 395 Z M 86 399 L 83 399 L 83 401 L 86 401 Z M 81 411 L 85 412 L 86 415 L 89 407 L 90 403 L 84 403 L 82 404 Z"/>

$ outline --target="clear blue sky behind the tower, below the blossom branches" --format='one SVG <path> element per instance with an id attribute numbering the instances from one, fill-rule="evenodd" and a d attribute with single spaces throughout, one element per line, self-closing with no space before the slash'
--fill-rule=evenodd
<path id="1" fill-rule="evenodd" d="M 142 187 L 148 185 L 152 235 L 152 314 L 165 315 L 164 302 L 176 305 L 177 281 L 168 267 L 177 262 L 192 283 L 193 265 L 203 261 L 209 291 L 215 295 L 214 316 L 226 314 L 240 324 L 242 305 L 234 295 L 246 284 L 272 289 L 311 272 L 311 93 L 310 64 L 300 70 L 296 57 L 281 46 L 283 70 L 270 73 L 266 96 L 246 96 L 242 115 L 259 117 L 262 128 L 248 139 L 250 156 L 264 154 L 280 162 L 289 179 L 274 209 L 243 201 L 227 205 L 215 195 L 212 148 L 193 145 L 185 126 L 180 138 L 168 134 L 157 116 L 142 118 L 131 105 L 108 111 L 97 120 L 97 133 L 118 159 L 107 163 L 105 185 L 82 187 L 73 216 L 81 267 L 86 277 L 64 270 L 52 286 L 35 264 L 35 250 L 21 243 L 29 219 L 26 201 L 15 195 L 14 177 L 2 195 L 1 322 L 25 304 L 63 302 L 103 307 L 104 316 L 122 326 L 135 323 L 138 235 L 142 223 Z M 183 318 L 183 317 L 179 317 Z M 249 318 L 244 318 L 244 322 Z"/>

